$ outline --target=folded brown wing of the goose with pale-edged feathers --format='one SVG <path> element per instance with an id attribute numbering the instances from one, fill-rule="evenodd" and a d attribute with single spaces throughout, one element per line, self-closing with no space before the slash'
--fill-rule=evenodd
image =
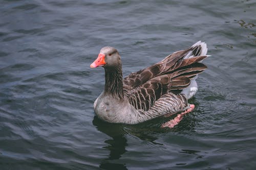
<path id="1" fill-rule="evenodd" d="M 162 95 L 178 94 L 190 84 L 190 79 L 207 67 L 199 63 L 207 56 L 183 59 L 189 51 L 201 54 L 201 46 L 175 52 L 162 61 L 134 72 L 123 79 L 124 94 L 136 109 L 149 110 Z"/>

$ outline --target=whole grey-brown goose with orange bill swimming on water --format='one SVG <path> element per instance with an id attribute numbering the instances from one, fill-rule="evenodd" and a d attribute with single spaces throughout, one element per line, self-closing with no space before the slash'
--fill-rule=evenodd
<path id="1" fill-rule="evenodd" d="M 180 113 L 161 126 L 173 128 L 195 108 L 188 100 L 198 90 L 196 79 L 207 68 L 202 63 L 206 57 L 207 45 L 198 41 L 123 78 L 119 52 L 111 46 L 101 48 L 90 65 L 105 71 L 104 90 L 93 105 L 95 114 L 109 123 L 139 124 Z"/>

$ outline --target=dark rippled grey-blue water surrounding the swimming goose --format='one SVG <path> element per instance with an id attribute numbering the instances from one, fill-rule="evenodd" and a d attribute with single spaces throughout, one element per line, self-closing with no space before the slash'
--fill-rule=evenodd
<path id="1" fill-rule="evenodd" d="M 1 1 L 1 169 L 253 169 L 255 1 Z M 94 116 L 101 47 L 124 76 L 208 45 L 208 69 L 174 129 L 163 119 L 116 125 Z"/>

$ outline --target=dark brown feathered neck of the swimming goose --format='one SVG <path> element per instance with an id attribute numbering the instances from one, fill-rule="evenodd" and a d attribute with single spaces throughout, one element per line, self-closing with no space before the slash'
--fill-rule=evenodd
<path id="1" fill-rule="evenodd" d="M 104 67 L 105 69 L 105 94 L 110 94 L 116 99 L 123 99 L 122 65 Z"/>

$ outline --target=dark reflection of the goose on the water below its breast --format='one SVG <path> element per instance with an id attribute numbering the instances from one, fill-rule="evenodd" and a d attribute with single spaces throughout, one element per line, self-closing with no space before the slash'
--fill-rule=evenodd
<path id="1" fill-rule="evenodd" d="M 116 163 L 116 161 L 115 163 L 113 163 L 112 161 L 112 160 L 120 159 L 122 155 L 126 152 L 125 150 L 125 147 L 127 146 L 126 136 L 129 136 L 127 134 L 131 134 L 136 137 L 139 137 L 141 140 L 150 141 L 153 144 L 160 144 L 155 142 L 157 137 L 155 137 L 152 134 L 147 134 L 147 132 L 152 132 L 151 130 L 150 131 L 148 130 L 148 127 L 146 128 L 147 131 L 144 131 L 141 129 L 142 127 L 144 127 L 143 125 L 136 126 L 136 125 L 111 124 L 111 123 L 103 122 L 96 116 L 93 119 L 93 125 L 96 126 L 96 128 L 99 131 L 105 133 L 106 135 L 112 138 L 104 141 L 105 143 L 108 144 L 104 148 L 110 151 L 110 155 L 108 158 L 105 158 L 100 163 L 99 166 L 100 168 L 103 168 L 103 169 L 127 169 L 125 163 Z M 157 127 L 157 129 L 158 130 L 160 129 L 159 126 Z"/>

